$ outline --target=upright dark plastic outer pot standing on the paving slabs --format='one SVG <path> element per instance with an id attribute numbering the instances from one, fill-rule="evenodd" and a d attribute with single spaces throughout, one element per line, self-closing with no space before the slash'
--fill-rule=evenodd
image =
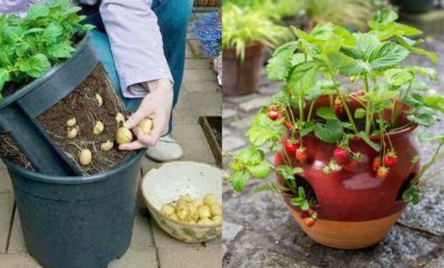
<path id="1" fill-rule="evenodd" d="M 46 268 L 101 268 L 128 249 L 140 162 L 89 177 L 42 175 L 6 161 L 28 251 Z"/>

